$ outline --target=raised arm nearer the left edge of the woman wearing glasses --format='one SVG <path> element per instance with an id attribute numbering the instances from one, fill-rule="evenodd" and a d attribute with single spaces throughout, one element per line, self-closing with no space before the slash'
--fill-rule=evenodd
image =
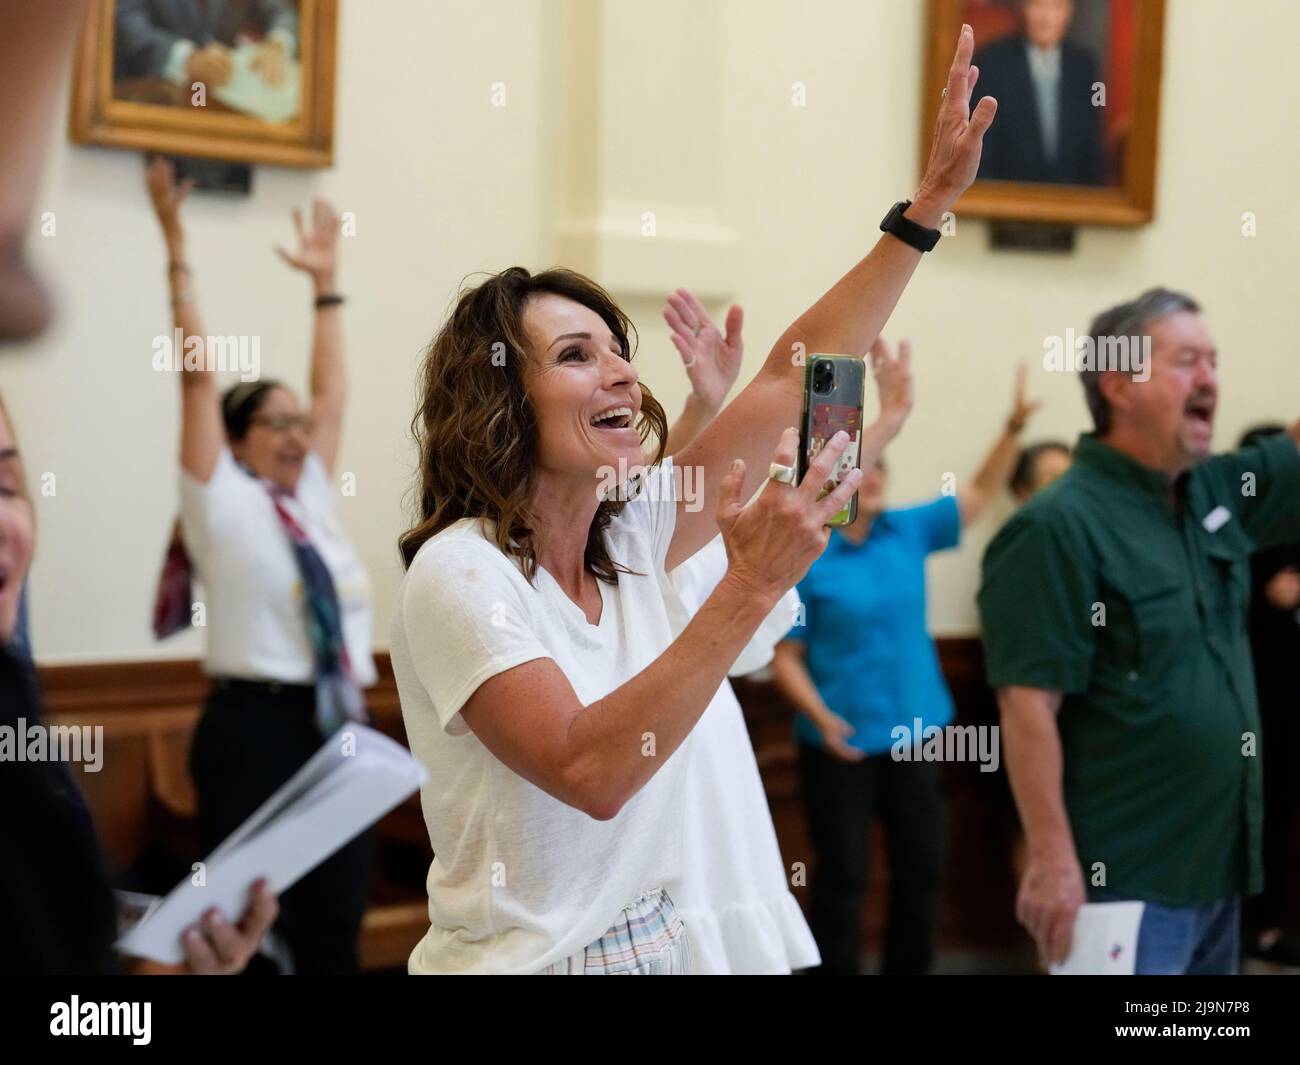
<path id="1" fill-rule="evenodd" d="M 181 378 L 181 468 L 205 484 L 217 468 L 225 428 L 216 373 L 208 368 L 208 339 L 194 295 L 194 274 L 185 257 L 181 204 L 194 183 L 185 181 L 178 186 L 172 161 L 161 156 L 151 160 L 146 183 L 166 244 L 173 339 L 181 339 L 181 350 L 174 352 L 181 367 L 177 375 Z"/>

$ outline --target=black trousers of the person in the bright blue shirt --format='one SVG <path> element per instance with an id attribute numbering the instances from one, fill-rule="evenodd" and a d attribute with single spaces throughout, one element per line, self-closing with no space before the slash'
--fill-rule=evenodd
<path id="1" fill-rule="evenodd" d="M 896 762 L 878 754 L 841 762 L 800 744 L 803 806 L 816 865 L 809 923 L 822 952 L 820 973 L 859 971 L 862 906 L 871 863 L 871 827 L 879 814 L 889 858 L 885 975 L 927 973 L 944 858 L 944 800 L 933 762 Z"/>

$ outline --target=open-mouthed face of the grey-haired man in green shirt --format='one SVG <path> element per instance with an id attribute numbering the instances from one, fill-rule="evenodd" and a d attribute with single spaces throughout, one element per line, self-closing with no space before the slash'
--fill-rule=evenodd
<path id="1" fill-rule="evenodd" d="M 1147 463 L 1169 473 L 1210 454 L 1218 410 L 1218 352 L 1201 316 L 1175 311 L 1153 321 L 1150 380 L 1108 373 L 1114 432 L 1139 442 Z"/>

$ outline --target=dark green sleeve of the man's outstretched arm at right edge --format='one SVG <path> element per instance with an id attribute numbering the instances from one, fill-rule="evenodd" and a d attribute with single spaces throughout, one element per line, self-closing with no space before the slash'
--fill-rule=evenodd
<path id="1" fill-rule="evenodd" d="M 1256 547 L 1300 540 L 1300 446 L 1290 433 L 1213 458 L 1201 475 L 1213 501 L 1238 515 Z"/>

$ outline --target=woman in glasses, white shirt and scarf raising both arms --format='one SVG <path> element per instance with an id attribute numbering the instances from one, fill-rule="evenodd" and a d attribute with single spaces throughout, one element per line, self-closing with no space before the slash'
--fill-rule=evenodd
<path id="1" fill-rule="evenodd" d="M 370 588 L 334 512 L 330 484 L 346 393 L 334 291 L 338 218 L 317 202 L 299 248 L 281 257 L 315 287 L 311 406 L 285 385 L 246 381 L 218 393 L 211 341 L 185 261 L 179 208 L 190 190 L 156 159 L 148 189 L 166 243 L 181 381 L 181 536 L 155 610 L 166 636 L 199 622 L 212 693 L 190 765 L 204 853 L 220 844 L 348 720 L 376 680 Z M 208 345 L 204 347 L 204 345 Z M 200 356 L 207 358 L 200 358 Z M 203 584 L 190 594 L 190 563 Z M 202 606 L 202 611 L 200 611 Z M 356 969 L 369 837 L 358 836 L 280 900 L 277 925 L 298 973 Z"/>

